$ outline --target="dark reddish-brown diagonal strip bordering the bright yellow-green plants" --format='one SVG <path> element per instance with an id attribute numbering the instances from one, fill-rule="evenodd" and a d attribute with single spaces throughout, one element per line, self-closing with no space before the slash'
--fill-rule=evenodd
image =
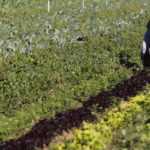
<path id="1" fill-rule="evenodd" d="M 42 148 L 48 145 L 51 140 L 73 127 L 80 127 L 83 121 L 96 119 L 89 108 L 98 105 L 101 108 L 110 107 L 113 104 L 112 97 L 119 97 L 128 100 L 144 90 L 146 84 L 150 84 L 150 72 L 141 71 L 131 78 L 117 84 L 112 90 L 99 93 L 83 102 L 83 106 L 58 113 L 54 118 L 47 118 L 38 121 L 26 135 L 18 139 L 12 139 L 0 144 L 0 150 L 33 150 L 34 147 Z"/>

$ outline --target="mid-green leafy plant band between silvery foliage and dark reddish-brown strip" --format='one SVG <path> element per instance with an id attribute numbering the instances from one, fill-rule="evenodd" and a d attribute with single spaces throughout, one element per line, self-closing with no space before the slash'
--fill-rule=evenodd
<path id="1" fill-rule="evenodd" d="M 86 100 L 132 74 L 132 69 L 109 60 L 109 53 L 93 53 L 84 47 L 64 50 L 61 55 L 47 49 L 28 56 L 18 52 L 1 59 L 2 139 L 20 133 L 32 121 L 71 108 L 73 100 Z M 139 68 L 140 64 L 136 69 Z"/>

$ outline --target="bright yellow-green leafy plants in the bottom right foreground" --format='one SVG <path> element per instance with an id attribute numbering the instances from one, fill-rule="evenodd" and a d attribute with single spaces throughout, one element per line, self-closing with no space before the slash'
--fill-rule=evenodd
<path id="1" fill-rule="evenodd" d="M 150 92 L 97 114 L 95 124 L 84 123 L 50 150 L 148 150 L 150 147 Z"/>

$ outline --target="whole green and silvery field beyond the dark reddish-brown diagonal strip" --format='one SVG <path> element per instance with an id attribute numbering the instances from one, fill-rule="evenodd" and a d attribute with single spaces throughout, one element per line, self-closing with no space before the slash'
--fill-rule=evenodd
<path id="1" fill-rule="evenodd" d="M 138 73 L 149 3 L 0 2 L 0 146 Z"/>

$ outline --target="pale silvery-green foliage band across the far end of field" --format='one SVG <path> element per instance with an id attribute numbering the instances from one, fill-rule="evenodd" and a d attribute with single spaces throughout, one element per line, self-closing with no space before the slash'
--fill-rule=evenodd
<path id="1" fill-rule="evenodd" d="M 51 41 L 64 48 L 70 42 L 76 43 L 78 37 L 85 36 L 91 40 L 93 36 L 109 35 L 110 32 L 113 32 L 114 40 L 119 40 L 121 37 L 115 34 L 138 20 L 148 9 L 148 2 L 133 4 L 132 1 L 117 0 L 106 7 L 99 1 L 88 0 L 87 8 L 81 11 L 78 1 L 69 2 L 59 2 L 62 4 L 59 7 L 53 4 L 55 7 L 51 13 L 46 12 L 46 6 L 40 1 L 33 6 L 36 4 L 34 1 L 15 9 L 2 8 L 0 54 L 8 57 L 17 49 L 29 53 L 37 48 L 49 48 Z"/>

